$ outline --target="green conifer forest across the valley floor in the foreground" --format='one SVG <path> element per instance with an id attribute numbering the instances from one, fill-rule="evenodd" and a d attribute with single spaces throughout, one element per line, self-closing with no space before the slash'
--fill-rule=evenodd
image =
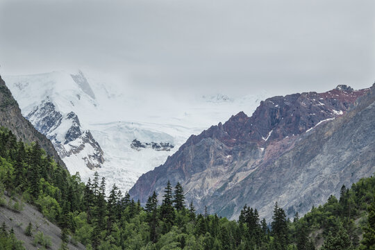
<path id="1" fill-rule="evenodd" d="M 142 207 L 95 173 L 88 183 L 70 175 L 41 149 L 0 130 L 0 205 L 23 209 L 27 202 L 62 228 L 60 249 L 81 242 L 86 249 L 375 249 L 375 178 L 363 178 L 340 198 L 303 217 L 287 218 L 274 205 L 271 222 L 244 206 L 238 221 L 197 214 L 182 186 L 166 183 L 163 200 L 154 192 Z M 4 196 L 15 201 L 7 206 Z M 48 249 L 50 243 L 28 224 L 25 235 Z M 0 227 L 0 249 L 24 249 L 12 228 Z"/>

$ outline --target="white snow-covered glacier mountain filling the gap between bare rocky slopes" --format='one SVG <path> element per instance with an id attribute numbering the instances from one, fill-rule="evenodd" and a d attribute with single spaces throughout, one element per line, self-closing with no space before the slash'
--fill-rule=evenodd
<path id="1" fill-rule="evenodd" d="M 108 74 L 85 70 L 4 76 L 22 115 L 53 142 L 71 174 L 94 171 L 126 192 L 144 173 L 165 163 L 192 134 L 244 111 L 251 115 L 267 92 L 178 99 L 161 92 L 135 94 Z M 168 150 L 143 144 L 173 145 Z"/>

